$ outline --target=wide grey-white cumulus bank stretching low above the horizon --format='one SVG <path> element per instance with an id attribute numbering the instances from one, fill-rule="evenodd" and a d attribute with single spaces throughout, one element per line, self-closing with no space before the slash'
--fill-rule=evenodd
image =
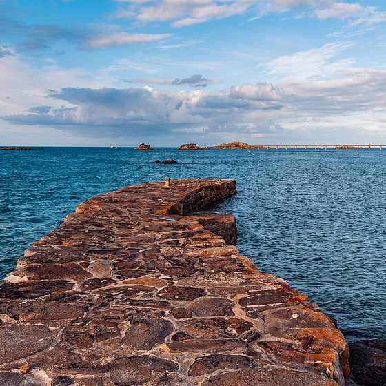
<path id="1" fill-rule="evenodd" d="M 63 88 L 48 95 L 70 108 L 30 108 L 29 114 L 2 116 L 10 123 L 50 125 L 98 137 L 170 132 L 279 135 L 296 122 L 365 120 L 386 112 L 386 71 L 357 69 L 328 81 L 254 83 L 227 90 L 153 90 L 152 88 Z M 363 122 L 357 119 L 358 122 Z M 367 122 L 368 123 L 368 122 Z M 343 125 L 343 123 L 342 123 Z M 372 123 L 372 128 L 379 127 Z M 370 127 L 370 126 L 369 126 Z M 351 130 L 346 127 L 345 130 Z M 263 133 L 263 134 L 262 134 Z M 282 133 L 283 134 L 283 133 Z"/>

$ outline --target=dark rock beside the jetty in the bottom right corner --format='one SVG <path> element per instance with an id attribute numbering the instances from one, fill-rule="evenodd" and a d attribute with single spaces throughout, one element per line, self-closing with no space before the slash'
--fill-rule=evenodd
<path id="1" fill-rule="evenodd" d="M 358 385 L 386 385 L 386 339 L 369 339 L 349 344 L 351 378 Z"/>

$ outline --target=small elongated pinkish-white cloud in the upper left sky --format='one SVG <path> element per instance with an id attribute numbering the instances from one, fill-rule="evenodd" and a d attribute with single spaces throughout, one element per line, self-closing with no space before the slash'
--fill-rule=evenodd
<path id="1" fill-rule="evenodd" d="M 171 34 L 128 34 L 127 32 L 118 32 L 116 34 L 94 35 L 90 37 L 88 44 L 92 48 L 109 48 L 114 45 L 152 43 L 171 36 Z"/>

